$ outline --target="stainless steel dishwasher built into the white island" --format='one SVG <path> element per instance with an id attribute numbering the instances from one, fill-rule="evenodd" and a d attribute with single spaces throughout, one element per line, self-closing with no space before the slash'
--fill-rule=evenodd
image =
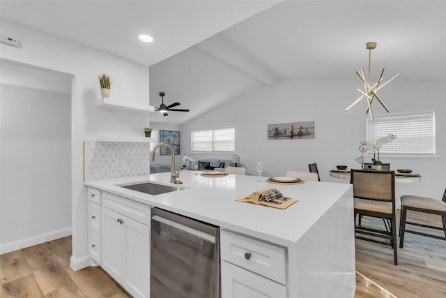
<path id="1" fill-rule="evenodd" d="M 220 228 L 152 209 L 151 298 L 220 297 Z"/>

